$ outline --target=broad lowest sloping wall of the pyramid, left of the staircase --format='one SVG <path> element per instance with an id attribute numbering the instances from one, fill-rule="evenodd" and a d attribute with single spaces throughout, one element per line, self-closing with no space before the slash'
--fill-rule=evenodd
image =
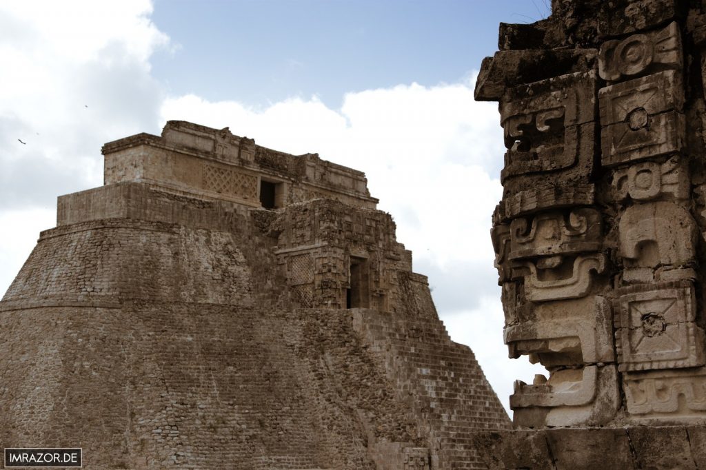
<path id="1" fill-rule="evenodd" d="M 375 442 L 424 447 L 346 311 L 5 307 L 2 445 L 78 445 L 85 468 L 263 470 L 374 469 Z"/>

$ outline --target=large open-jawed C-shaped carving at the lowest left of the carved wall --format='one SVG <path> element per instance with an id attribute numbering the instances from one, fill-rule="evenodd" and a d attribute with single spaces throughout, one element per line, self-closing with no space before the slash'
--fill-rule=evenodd
<path id="1" fill-rule="evenodd" d="M 509 284 L 509 283 L 508 283 Z M 505 284 L 503 284 L 503 294 Z M 503 306 L 509 308 L 503 297 Z M 528 355 L 549 379 L 515 381 L 510 407 L 516 426 L 604 423 L 620 402 L 614 365 L 610 303 L 602 296 L 515 306 L 520 312 L 503 331 L 510 358 Z"/>

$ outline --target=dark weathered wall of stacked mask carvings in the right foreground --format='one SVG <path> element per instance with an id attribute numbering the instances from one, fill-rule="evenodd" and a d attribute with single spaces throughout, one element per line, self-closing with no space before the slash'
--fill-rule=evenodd
<path id="1" fill-rule="evenodd" d="M 706 468 L 706 2 L 553 0 L 501 23 L 492 240 L 517 430 L 491 468 Z"/>

